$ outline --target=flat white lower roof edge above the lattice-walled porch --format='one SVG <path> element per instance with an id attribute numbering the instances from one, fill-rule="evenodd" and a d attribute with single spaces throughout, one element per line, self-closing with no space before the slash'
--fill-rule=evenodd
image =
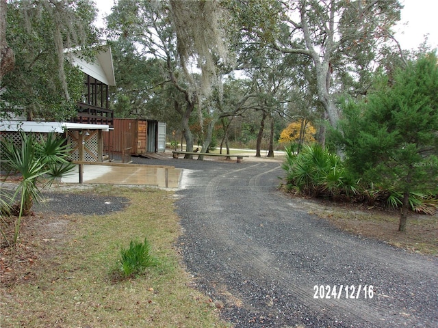
<path id="1" fill-rule="evenodd" d="M 65 130 L 102 130 L 110 131 L 106 124 L 84 124 L 70 122 L 36 122 L 36 121 L 8 121 L 0 122 L 0 131 L 23 131 L 38 133 L 64 133 Z"/>

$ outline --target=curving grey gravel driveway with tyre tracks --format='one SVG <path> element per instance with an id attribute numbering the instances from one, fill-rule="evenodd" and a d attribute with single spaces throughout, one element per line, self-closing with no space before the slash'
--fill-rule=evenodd
<path id="1" fill-rule="evenodd" d="M 279 162 L 195 162 L 175 161 L 192 165 L 177 193 L 181 252 L 235 327 L 438 327 L 437 258 L 307 214 L 277 190 Z"/>

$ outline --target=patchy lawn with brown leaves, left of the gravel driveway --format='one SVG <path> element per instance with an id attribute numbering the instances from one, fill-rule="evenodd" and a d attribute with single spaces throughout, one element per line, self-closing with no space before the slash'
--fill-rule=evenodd
<path id="1" fill-rule="evenodd" d="M 220 304 L 192 288 L 181 265 L 172 193 L 110 186 L 92 193 L 130 204 L 109 215 L 26 217 L 21 243 L 1 249 L 1 327 L 228 327 Z M 120 248 L 145 237 L 159 265 L 121 279 Z"/>

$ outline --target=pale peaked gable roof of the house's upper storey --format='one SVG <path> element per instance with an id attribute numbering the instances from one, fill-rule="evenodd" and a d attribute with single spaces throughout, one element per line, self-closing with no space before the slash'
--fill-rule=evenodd
<path id="1" fill-rule="evenodd" d="M 112 52 L 110 46 L 101 46 L 102 51 L 97 53 L 94 61 L 87 61 L 81 54 L 81 51 L 66 51 L 69 52 L 69 57 L 72 60 L 73 65 L 79 67 L 79 69 L 94 77 L 106 85 L 116 85 L 116 78 L 114 77 L 114 66 L 112 62 Z"/>

